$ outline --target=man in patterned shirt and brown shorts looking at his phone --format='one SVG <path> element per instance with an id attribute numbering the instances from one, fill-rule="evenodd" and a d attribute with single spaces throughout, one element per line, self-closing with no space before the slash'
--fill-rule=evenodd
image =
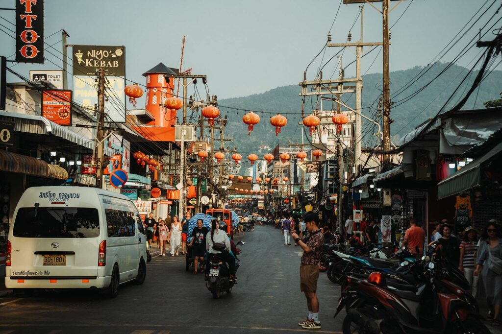
<path id="1" fill-rule="evenodd" d="M 298 322 L 306 329 L 319 329 L 319 299 L 317 299 L 317 279 L 319 278 L 319 260 L 321 259 L 324 236 L 319 228 L 319 216 L 311 213 L 305 216 L 308 233 L 298 237 L 295 230 L 291 231 L 293 240 L 303 249 L 300 264 L 300 291 L 307 298 L 309 313 L 307 319 Z"/>

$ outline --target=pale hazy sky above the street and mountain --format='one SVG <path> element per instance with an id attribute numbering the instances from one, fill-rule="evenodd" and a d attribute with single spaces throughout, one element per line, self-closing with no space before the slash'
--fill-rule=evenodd
<path id="1" fill-rule="evenodd" d="M 391 71 L 427 65 L 485 0 L 405 0 L 391 13 L 391 25 L 411 1 L 409 9 L 392 29 Z M 489 0 L 489 4 L 492 2 Z M 396 3 L 391 2 L 391 6 Z M 4 0 L 1 4 L 1 7 L 14 7 L 14 0 Z M 206 74 L 211 94 L 219 98 L 237 97 L 301 81 L 307 64 L 326 42 L 339 4 L 339 0 L 46 0 L 45 35 L 65 29 L 70 35 L 68 44 L 126 46 L 127 77 L 140 83 L 145 83 L 141 74 L 159 62 L 179 67 L 181 41 L 186 35 L 183 68 L 192 67 L 194 74 Z M 496 7 L 498 5 L 496 2 Z M 376 6 L 381 7 L 379 3 Z M 346 41 L 358 11 L 358 5 L 341 5 L 331 29 L 333 42 Z M 488 12 L 489 16 L 494 12 L 495 6 Z M 14 12 L 0 11 L 0 16 L 14 22 Z M 476 27 L 485 21 L 483 18 Z M 365 5 L 365 41 L 382 40 L 381 22 L 381 14 Z M 14 30 L 14 26 L 4 20 L 0 19 L 0 23 Z M 356 22 L 352 29 L 353 41 L 359 39 L 359 27 Z M 5 30 L 1 26 L 0 29 Z M 46 42 L 53 44 L 60 40 L 61 33 L 58 33 Z M 13 55 L 14 44 L 14 39 L 0 32 L 0 54 Z M 55 47 L 61 49 L 61 43 Z M 329 48 L 324 62 L 336 51 Z M 363 58 L 363 72 L 368 70 L 376 53 L 377 50 Z M 444 60 L 449 61 L 454 55 L 456 53 Z M 458 64 L 466 65 L 473 56 L 465 57 Z M 48 53 L 46 58 L 62 64 L 62 60 Z M 314 76 L 310 70 L 315 71 L 320 60 L 309 68 L 310 79 Z M 352 60 L 353 55 L 345 52 L 343 63 Z M 324 78 L 333 72 L 335 61 L 326 65 Z M 379 56 L 368 73 L 381 72 L 381 63 Z M 14 63 L 8 66 L 12 65 Z M 46 62 L 44 66 L 19 64 L 13 69 L 28 76 L 29 70 L 57 68 Z M 12 76 L 9 79 L 19 81 Z"/>

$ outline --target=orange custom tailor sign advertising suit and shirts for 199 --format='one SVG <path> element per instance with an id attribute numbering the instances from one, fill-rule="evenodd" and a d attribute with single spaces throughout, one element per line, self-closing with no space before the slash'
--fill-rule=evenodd
<path id="1" fill-rule="evenodd" d="M 71 125 L 71 90 L 44 90 L 42 116 L 59 125 Z"/>

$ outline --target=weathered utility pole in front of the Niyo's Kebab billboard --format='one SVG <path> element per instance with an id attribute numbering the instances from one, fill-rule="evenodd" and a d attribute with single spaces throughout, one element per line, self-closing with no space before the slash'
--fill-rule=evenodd
<path id="1" fill-rule="evenodd" d="M 96 121 L 96 139 L 97 139 L 97 163 L 96 163 L 96 186 L 103 188 L 103 161 L 104 161 L 104 91 L 105 91 L 105 70 L 99 68 L 97 71 L 97 121 Z"/>

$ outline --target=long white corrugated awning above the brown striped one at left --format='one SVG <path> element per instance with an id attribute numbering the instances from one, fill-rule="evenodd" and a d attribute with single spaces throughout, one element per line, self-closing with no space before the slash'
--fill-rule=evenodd
<path id="1" fill-rule="evenodd" d="M 14 126 L 15 131 L 33 134 L 50 133 L 54 136 L 66 139 L 89 149 L 94 148 L 94 140 L 73 132 L 69 128 L 56 124 L 43 116 L 0 111 L 0 120 L 6 120 L 16 123 Z M 113 155 L 114 151 L 110 147 L 105 146 L 104 153 L 111 156 Z"/>

